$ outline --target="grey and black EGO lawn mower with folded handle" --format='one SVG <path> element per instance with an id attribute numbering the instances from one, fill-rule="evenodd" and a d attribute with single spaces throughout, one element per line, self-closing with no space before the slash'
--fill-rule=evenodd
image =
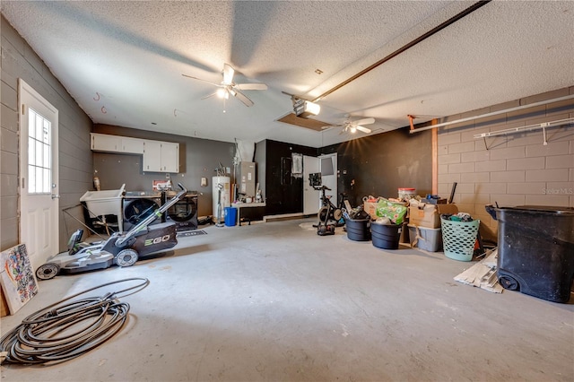
<path id="1" fill-rule="evenodd" d="M 76 230 L 68 241 L 68 250 L 48 258 L 36 270 L 39 280 L 49 280 L 58 273 L 80 273 L 94 269 L 104 269 L 111 265 L 134 265 L 139 256 L 160 252 L 175 247 L 176 223 L 173 221 L 150 225 L 161 214 L 178 203 L 187 189 L 178 184 L 181 191 L 155 211 L 147 213 L 142 221 L 126 232 L 114 232 L 109 239 L 86 243 L 82 242 L 83 229 Z"/>

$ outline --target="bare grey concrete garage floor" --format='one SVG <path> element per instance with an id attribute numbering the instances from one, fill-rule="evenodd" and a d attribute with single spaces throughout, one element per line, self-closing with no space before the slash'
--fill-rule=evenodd
<path id="1" fill-rule="evenodd" d="M 455 282 L 472 263 L 304 230 L 307 220 L 205 227 L 174 253 L 40 282 L 31 312 L 147 277 L 126 326 L 54 366 L 2 381 L 574 380 L 574 304 Z M 117 287 L 118 288 L 118 287 Z M 116 289 L 117 290 L 117 289 Z M 91 295 L 103 295 L 103 291 Z"/>

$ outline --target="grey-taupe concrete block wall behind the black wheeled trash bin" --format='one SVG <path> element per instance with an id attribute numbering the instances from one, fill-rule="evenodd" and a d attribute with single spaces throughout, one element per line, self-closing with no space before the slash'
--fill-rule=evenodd
<path id="1" fill-rule="evenodd" d="M 439 123 L 574 94 L 574 86 L 449 116 Z M 461 212 L 481 220 L 485 237 L 497 222 L 486 204 L 574 206 L 574 125 L 475 139 L 474 135 L 574 117 L 574 100 L 439 127 L 439 195 L 450 195 Z"/>

